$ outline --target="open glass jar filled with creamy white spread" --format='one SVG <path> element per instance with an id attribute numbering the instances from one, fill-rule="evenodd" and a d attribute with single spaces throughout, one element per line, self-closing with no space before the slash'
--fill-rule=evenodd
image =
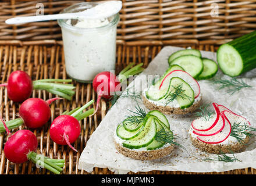
<path id="1" fill-rule="evenodd" d="M 61 13 L 81 12 L 96 5 L 95 2 L 77 3 Z M 115 70 L 119 19 L 119 14 L 116 14 L 101 20 L 58 20 L 66 72 L 70 78 L 88 83 L 101 71 Z"/>

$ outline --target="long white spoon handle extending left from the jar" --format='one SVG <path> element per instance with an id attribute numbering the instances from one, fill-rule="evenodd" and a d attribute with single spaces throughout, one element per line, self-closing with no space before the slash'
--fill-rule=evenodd
<path id="1" fill-rule="evenodd" d="M 76 13 L 61 13 L 55 15 L 42 15 L 42 16 L 23 16 L 23 17 L 13 17 L 5 20 L 6 24 L 20 24 L 20 23 L 31 23 L 31 22 L 41 22 L 47 20 L 56 19 L 77 19 L 79 17 Z"/>

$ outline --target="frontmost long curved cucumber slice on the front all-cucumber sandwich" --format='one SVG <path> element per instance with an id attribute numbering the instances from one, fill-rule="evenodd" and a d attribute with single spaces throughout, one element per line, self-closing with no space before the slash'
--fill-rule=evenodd
<path id="1" fill-rule="evenodd" d="M 123 142 L 123 146 L 130 149 L 139 149 L 151 144 L 151 142 L 154 141 L 155 134 L 157 133 L 154 117 L 155 116 L 148 117 L 143 131 L 141 131 L 137 137 Z"/>

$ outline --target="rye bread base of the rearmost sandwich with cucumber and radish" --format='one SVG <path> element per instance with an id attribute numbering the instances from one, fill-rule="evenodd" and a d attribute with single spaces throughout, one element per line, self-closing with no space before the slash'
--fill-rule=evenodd
<path id="1" fill-rule="evenodd" d="M 180 109 L 180 108 L 172 108 L 170 106 L 158 106 L 155 105 L 154 103 L 148 101 L 148 99 L 142 95 L 143 98 L 143 103 L 145 105 L 146 108 L 150 109 L 150 110 L 159 110 L 160 112 L 162 112 L 163 114 L 166 115 L 186 115 L 187 113 L 193 113 L 200 105 L 201 105 L 201 98 L 198 102 L 193 103 L 193 105 L 191 105 L 189 108 L 186 109 Z"/>

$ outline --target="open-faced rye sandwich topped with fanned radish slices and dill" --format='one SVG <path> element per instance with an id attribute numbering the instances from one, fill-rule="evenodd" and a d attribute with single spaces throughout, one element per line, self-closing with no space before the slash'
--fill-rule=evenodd
<path id="1" fill-rule="evenodd" d="M 212 103 L 215 114 L 200 117 L 191 123 L 192 144 L 208 153 L 241 152 L 256 131 L 250 122 L 223 105 Z"/>

